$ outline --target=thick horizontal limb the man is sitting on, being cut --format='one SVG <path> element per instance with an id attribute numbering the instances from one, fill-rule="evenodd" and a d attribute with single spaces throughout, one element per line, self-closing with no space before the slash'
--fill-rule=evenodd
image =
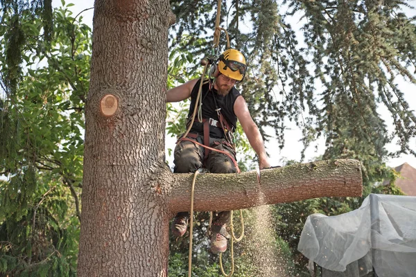
<path id="1" fill-rule="evenodd" d="M 195 211 L 239 210 L 316 197 L 360 196 L 362 176 L 356 160 L 317 161 L 235 175 L 201 174 L 194 193 Z M 169 194 L 173 213 L 189 211 L 193 174 L 175 174 Z"/>

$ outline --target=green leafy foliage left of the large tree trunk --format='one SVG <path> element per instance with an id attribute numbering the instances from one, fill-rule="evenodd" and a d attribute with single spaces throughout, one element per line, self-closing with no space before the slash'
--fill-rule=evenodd
<path id="1" fill-rule="evenodd" d="M 16 24 L 12 13 L 2 19 L 3 32 Z M 76 275 L 91 30 L 67 8 L 53 19 L 46 42 L 44 21 L 21 15 L 25 69 L 13 93 L 9 69 L 1 71 L 0 272 L 13 276 Z"/>

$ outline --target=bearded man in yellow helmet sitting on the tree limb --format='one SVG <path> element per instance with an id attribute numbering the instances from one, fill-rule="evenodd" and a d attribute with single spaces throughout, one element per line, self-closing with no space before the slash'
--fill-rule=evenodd
<path id="1" fill-rule="evenodd" d="M 193 122 L 186 136 L 182 136 L 174 151 L 175 173 L 195 172 L 205 167 L 211 173 L 235 173 L 239 171 L 232 132 L 240 121 L 248 141 L 259 157 L 259 168 L 269 168 L 266 150 L 259 128 L 252 120 L 247 103 L 234 84 L 241 82 L 247 66 L 240 51 L 228 49 L 218 58 L 218 63 L 211 66 L 211 78 L 203 80 L 200 99 L 198 91 L 200 79 L 190 80 L 178 87 L 169 89 L 166 102 L 179 102 L 191 97 L 188 114 L 188 127 Z M 198 105 L 198 101 L 202 105 Z M 192 120 L 194 109 L 202 115 L 200 120 Z M 199 116 L 201 118 L 201 116 Z M 226 226 L 230 212 L 214 213 L 212 222 L 211 251 L 224 252 L 227 249 L 229 234 Z M 173 235 L 182 236 L 187 231 L 189 213 L 177 213 L 171 231 Z"/>

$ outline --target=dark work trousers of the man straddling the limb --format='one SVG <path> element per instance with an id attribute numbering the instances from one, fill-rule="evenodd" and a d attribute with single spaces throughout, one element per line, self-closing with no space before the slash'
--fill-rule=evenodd
<path id="1" fill-rule="evenodd" d="M 204 144 L 203 136 L 199 135 L 196 139 L 189 139 Z M 235 160 L 236 152 L 226 142 L 225 139 L 209 138 L 209 147 L 228 152 Z M 173 172 L 196 172 L 196 170 L 202 168 L 204 165 L 205 148 L 191 141 L 180 141 L 175 147 L 173 156 L 173 163 L 175 163 Z M 223 153 L 212 150 L 209 151 L 207 160 L 205 161 L 205 168 L 211 173 L 235 173 L 237 171 L 232 159 Z M 189 216 L 189 213 L 178 213 L 176 216 Z M 214 212 L 213 222 L 216 224 L 228 224 L 230 216 L 231 213 L 229 211 Z"/>

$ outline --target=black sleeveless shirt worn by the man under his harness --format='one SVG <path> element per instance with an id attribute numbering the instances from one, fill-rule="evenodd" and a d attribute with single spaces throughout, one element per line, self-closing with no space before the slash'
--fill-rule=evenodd
<path id="1" fill-rule="evenodd" d="M 193 107 L 195 107 L 200 82 L 201 80 L 198 80 L 198 82 L 196 82 L 191 92 L 191 105 L 189 107 L 188 114 L 189 120 L 190 118 L 192 118 L 193 115 Z M 235 87 L 232 87 L 232 89 L 229 91 L 229 93 L 227 93 L 226 96 L 220 96 L 217 93 L 216 89 L 214 89 L 214 87 L 212 87 L 211 91 L 209 91 L 209 80 L 205 79 L 202 83 L 201 94 L 202 118 L 212 118 L 214 120 L 219 120 L 218 114 L 216 112 L 216 105 L 218 105 L 218 107 L 221 108 L 221 114 L 225 117 L 230 127 L 235 129 L 237 126 L 237 116 L 236 114 L 234 114 L 234 103 L 236 102 L 236 99 L 239 96 L 241 96 L 241 93 Z M 195 116 L 195 121 L 192 125 L 190 132 L 200 135 L 204 134 L 203 124 L 198 122 L 198 114 L 196 114 Z M 209 126 L 209 136 L 215 138 L 224 138 L 223 129 L 219 127 Z"/>

